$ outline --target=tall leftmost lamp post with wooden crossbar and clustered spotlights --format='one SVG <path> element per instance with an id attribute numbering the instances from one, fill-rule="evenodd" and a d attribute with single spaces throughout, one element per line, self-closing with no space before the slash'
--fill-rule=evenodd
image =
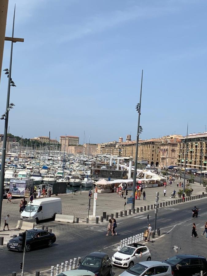
<path id="1" fill-rule="evenodd" d="M 0 218 L 2 216 L 2 201 L 3 201 L 3 188 L 4 188 L 4 169 L 5 169 L 5 159 L 6 159 L 6 140 L 7 140 L 7 128 L 8 128 L 8 120 L 9 120 L 9 110 L 13 108 L 14 104 L 10 104 L 10 87 L 16 86 L 11 79 L 11 68 L 12 68 L 12 52 L 13 52 L 13 42 L 23 42 L 23 39 L 14 38 L 14 19 L 15 19 L 15 7 L 14 7 L 14 15 L 13 15 L 13 27 L 12 27 L 12 37 L 8 37 L 7 40 L 11 41 L 11 51 L 10 51 L 10 66 L 9 70 L 6 70 L 6 75 L 8 77 L 8 88 L 7 88 L 7 99 L 6 99 L 6 111 L 2 115 L 1 119 L 5 119 L 4 124 L 4 139 L 3 139 L 3 146 L 2 146 L 2 163 L 1 163 L 1 174 L 0 174 Z M 5 117 L 5 118 L 4 118 Z M 0 219 L 0 227 L 1 227 L 1 219 Z"/>

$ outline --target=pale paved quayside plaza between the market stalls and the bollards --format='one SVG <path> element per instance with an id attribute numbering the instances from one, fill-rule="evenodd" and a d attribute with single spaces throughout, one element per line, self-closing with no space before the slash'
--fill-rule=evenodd
<path id="1" fill-rule="evenodd" d="M 180 189 L 177 187 L 177 182 L 180 182 L 180 180 L 175 180 L 174 184 L 172 186 L 167 186 L 167 194 L 164 197 L 163 194 L 163 187 L 155 187 L 155 188 L 147 188 L 145 189 L 146 192 L 146 200 L 143 200 L 143 196 L 141 195 L 140 200 L 135 201 L 135 209 L 137 207 L 144 207 L 147 205 L 151 205 L 155 203 L 155 194 L 156 192 L 159 192 L 159 202 L 163 201 L 169 201 L 171 193 L 173 190 L 176 191 L 176 198 L 178 199 L 178 190 Z M 182 182 L 182 180 L 181 180 Z M 205 192 L 205 188 L 203 186 L 200 186 L 199 184 L 191 184 L 193 189 L 193 195 L 202 194 L 202 192 Z M 128 191 L 128 196 L 130 197 L 132 194 L 132 191 Z M 76 194 L 60 194 L 57 197 L 60 197 L 62 200 L 62 214 L 65 215 L 74 215 L 75 217 L 79 217 L 79 221 L 83 221 L 83 223 L 86 222 L 86 217 L 88 216 L 88 191 L 84 191 L 80 194 L 80 192 L 76 192 Z M 22 230 L 17 230 L 17 220 L 20 220 L 20 213 L 19 212 L 19 204 L 21 199 L 13 199 L 12 204 L 7 203 L 7 200 L 3 200 L 2 205 L 2 218 L 1 218 L 1 230 L 0 230 L 0 237 L 4 236 L 4 244 L 7 243 L 8 240 L 11 239 L 11 237 L 15 234 L 18 236 L 19 232 L 22 232 Z M 91 209 L 89 212 L 89 215 L 93 215 L 93 196 L 91 198 Z M 96 205 L 96 216 L 102 216 L 103 212 L 107 212 L 107 214 L 110 216 L 111 213 L 114 214 L 118 212 L 120 214 L 120 211 L 124 211 L 124 198 L 119 197 L 116 193 L 111 194 L 98 194 L 97 199 L 97 205 Z M 131 204 L 127 204 L 125 206 L 125 209 L 131 209 Z M 11 231 L 2 231 L 4 227 L 4 219 L 7 214 L 10 214 L 9 219 L 9 228 Z M 93 222 L 94 223 L 94 222 Z M 42 224 L 38 224 L 38 227 L 40 228 Z M 68 228 L 70 229 L 72 227 L 71 224 L 67 223 L 56 223 L 56 222 L 44 222 L 44 225 L 50 226 L 52 229 L 54 229 L 58 232 L 64 232 L 68 231 Z M 77 224 L 76 224 L 77 225 Z M 77 225 L 78 226 L 78 225 Z M 77 227 L 76 226 L 76 227 Z M 7 228 L 5 228 L 7 229 Z"/>

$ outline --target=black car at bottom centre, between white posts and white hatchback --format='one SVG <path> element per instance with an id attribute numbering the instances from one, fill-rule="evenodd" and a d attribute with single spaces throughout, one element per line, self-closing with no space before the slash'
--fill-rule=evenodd
<path id="1" fill-rule="evenodd" d="M 103 252 L 93 252 L 86 256 L 78 269 L 90 270 L 97 276 L 110 276 L 112 263 L 109 255 Z"/>

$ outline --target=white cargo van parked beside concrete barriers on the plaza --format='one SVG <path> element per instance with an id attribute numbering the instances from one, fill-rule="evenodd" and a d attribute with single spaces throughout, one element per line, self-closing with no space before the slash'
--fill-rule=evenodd
<path id="1" fill-rule="evenodd" d="M 25 219 L 36 219 L 46 220 L 49 218 L 55 219 L 56 214 L 62 213 L 62 202 L 61 198 L 58 197 L 44 197 L 40 199 L 35 199 L 32 204 L 26 205 L 26 208 L 21 213 L 21 220 Z"/>

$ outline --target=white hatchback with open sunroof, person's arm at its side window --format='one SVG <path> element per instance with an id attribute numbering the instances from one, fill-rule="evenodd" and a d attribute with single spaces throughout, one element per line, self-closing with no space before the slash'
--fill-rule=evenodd
<path id="1" fill-rule="evenodd" d="M 151 253 L 149 248 L 141 243 L 125 245 L 112 256 L 113 265 L 121 267 L 130 267 L 144 261 L 151 261 Z"/>

